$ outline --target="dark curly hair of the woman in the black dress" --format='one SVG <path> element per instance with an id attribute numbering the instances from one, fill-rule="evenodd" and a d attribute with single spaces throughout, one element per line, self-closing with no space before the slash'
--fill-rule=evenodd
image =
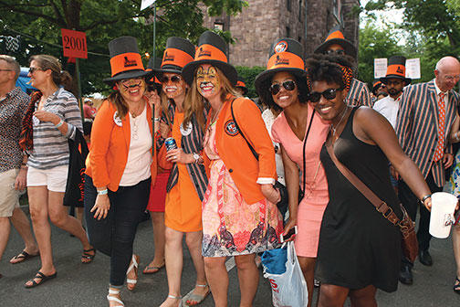
<path id="1" fill-rule="evenodd" d="M 306 67 L 309 83 L 326 81 L 340 85 L 341 89 L 350 87 L 353 66 L 348 57 L 312 55 L 307 59 Z"/>

